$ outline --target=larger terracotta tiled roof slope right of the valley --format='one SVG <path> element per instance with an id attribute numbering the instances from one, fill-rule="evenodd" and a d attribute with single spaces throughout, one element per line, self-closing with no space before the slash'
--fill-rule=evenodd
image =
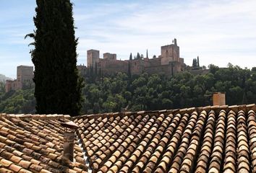
<path id="1" fill-rule="evenodd" d="M 256 172 L 256 107 L 75 117 L 93 172 Z"/>

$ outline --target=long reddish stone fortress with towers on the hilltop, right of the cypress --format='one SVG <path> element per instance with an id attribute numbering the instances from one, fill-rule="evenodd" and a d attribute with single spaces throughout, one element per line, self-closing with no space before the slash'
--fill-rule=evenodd
<path id="1" fill-rule="evenodd" d="M 158 58 L 148 58 L 147 50 L 145 58 L 139 56 L 132 59 L 130 57 L 129 60 L 121 61 L 116 59 L 114 53 L 103 53 L 103 58 L 100 58 L 100 51 L 93 49 L 87 51 L 87 58 L 87 67 L 77 66 L 82 74 L 86 74 L 87 69 L 87 71 L 95 71 L 95 73 L 102 73 L 103 75 L 118 72 L 174 75 L 184 71 L 186 67 L 184 58 L 179 57 L 179 46 L 176 39 L 173 40 L 173 44 L 161 47 L 161 56 Z"/>

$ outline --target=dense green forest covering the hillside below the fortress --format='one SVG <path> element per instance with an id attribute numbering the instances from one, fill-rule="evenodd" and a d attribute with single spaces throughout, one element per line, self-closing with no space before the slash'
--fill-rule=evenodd
<path id="1" fill-rule="evenodd" d="M 213 92 L 225 92 L 227 105 L 256 103 L 256 68 L 209 68 L 205 75 L 91 75 L 85 78 L 82 114 L 207 106 L 212 105 Z M 4 94 L 0 86 L 0 112 L 35 112 L 33 89 Z"/>

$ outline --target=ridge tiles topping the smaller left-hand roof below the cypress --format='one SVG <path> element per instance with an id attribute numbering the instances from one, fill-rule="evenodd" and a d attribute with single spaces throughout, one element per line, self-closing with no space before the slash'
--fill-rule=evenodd
<path id="1" fill-rule="evenodd" d="M 1 117 L 7 119 L 19 118 L 19 119 L 33 119 L 33 120 L 58 120 L 58 119 L 71 119 L 70 115 L 58 115 L 58 114 L 49 114 L 49 115 L 31 115 L 31 114 L 0 114 Z"/>

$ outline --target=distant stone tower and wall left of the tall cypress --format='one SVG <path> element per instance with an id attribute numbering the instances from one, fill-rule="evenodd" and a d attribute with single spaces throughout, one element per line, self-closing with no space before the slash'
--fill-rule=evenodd
<path id="1" fill-rule="evenodd" d="M 17 66 L 17 79 L 6 81 L 5 92 L 32 86 L 33 77 L 33 66 Z"/>

